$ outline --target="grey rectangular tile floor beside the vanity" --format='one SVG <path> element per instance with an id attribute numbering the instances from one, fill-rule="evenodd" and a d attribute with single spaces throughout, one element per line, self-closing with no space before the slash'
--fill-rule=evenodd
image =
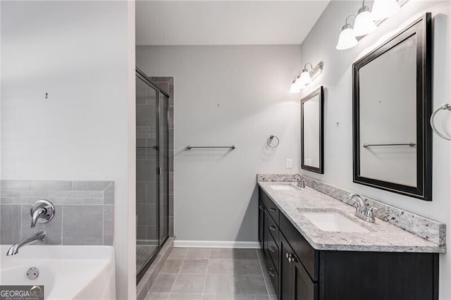
<path id="1" fill-rule="evenodd" d="M 272 300 L 257 249 L 174 248 L 146 299 Z"/>

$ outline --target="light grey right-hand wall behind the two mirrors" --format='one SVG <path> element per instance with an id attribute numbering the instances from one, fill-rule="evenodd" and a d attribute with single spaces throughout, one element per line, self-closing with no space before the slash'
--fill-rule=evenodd
<path id="1" fill-rule="evenodd" d="M 324 175 L 303 170 L 305 175 L 372 199 L 426 215 L 451 226 L 451 143 L 433 137 L 433 201 L 384 192 L 352 183 L 352 63 L 377 44 L 395 34 L 422 13 L 433 13 L 433 107 L 451 99 L 450 90 L 450 2 L 409 1 L 401 11 L 382 23 L 350 50 L 338 51 L 335 45 L 347 15 L 355 13 L 360 2 L 332 1 L 301 46 L 302 62 L 324 62 L 324 71 L 315 85 L 326 87 L 324 105 Z M 306 91 L 307 93 L 308 91 Z M 402 113 L 402 112 L 400 112 Z M 338 125 L 337 125 L 338 123 Z M 438 115 L 440 130 L 450 132 L 449 113 Z M 447 130 L 445 128 L 448 128 Z M 440 256 L 440 299 L 451 299 L 451 255 Z"/>

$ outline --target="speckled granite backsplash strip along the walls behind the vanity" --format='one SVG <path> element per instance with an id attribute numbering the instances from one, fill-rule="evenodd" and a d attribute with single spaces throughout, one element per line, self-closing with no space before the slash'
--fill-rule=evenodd
<path id="1" fill-rule="evenodd" d="M 313 178 L 305 175 L 301 175 L 301 177 L 303 180 L 305 180 L 305 185 L 307 185 L 307 187 L 316 189 L 323 194 L 327 194 L 334 199 L 352 206 L 352 203 L 347 201 L 346 199 L 347 195 L 351 194 L 351 192 L 347 192 L 338 187 L 327 185 L 324 182 L 314 180 Z M 259 174 L 257 175 L 257 181 L 296 182 L 294 175 L 288 174 Z M 422 215 L 410 213 L 409 211 L 404 211 L 401 208 L 390 206 L 381 201 L 369 199 L 365 196 L 363 197 L 367 206 L 378 208 L 378 211 L 374 211 L 376 218 L 400 227 L 403 230 L 406 230 L 414 235 L 426 239 L 429 242 L 432 242 L 433 244 L 445 247 L 446 225 L 444 223 L 426 218 Z"/>

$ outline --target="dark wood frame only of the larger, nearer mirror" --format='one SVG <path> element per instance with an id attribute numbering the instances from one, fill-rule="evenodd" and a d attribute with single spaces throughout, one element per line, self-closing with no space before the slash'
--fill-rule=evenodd
<path id="1" fill-rule="evenodd" d="M 432 132 L 429 125 L 432 108 L 431 30 L 431 13 L 426 13 L 352 65 L 354 182 L 426 201 L 432 201 Z M 409 187 L 360 175 L 359 69 L 414 35 L 416 35 L 416 187 Z"/>

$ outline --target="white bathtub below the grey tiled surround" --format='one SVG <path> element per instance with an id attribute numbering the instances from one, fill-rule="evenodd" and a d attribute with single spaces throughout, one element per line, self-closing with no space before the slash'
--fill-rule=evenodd
<path id="1" fill-rule="evenodd" d="M 1 245 L 0 285 L 44 285 L 45 299 L 116 299 L 112 246 L 24 246 L 6 256 Z M 27 279 L 29 268 L 39 270 Z"/>

